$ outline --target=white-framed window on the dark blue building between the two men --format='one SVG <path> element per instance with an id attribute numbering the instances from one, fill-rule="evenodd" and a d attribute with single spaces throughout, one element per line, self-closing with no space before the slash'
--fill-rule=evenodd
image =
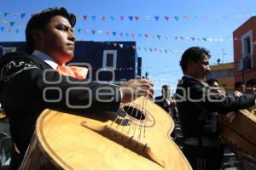
<path id="1" fill-rule="evenodd" d="M 104 50 L 102 68 L 116 69 L 117 50 Z"/>

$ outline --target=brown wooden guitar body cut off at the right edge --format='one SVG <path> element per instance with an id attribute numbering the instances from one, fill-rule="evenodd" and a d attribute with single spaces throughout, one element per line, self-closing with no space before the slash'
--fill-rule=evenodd
<path id="1" fill-rule="evenodd" d="M 230 119 L 224 115 L 218 116 L 221 125 L 221 137 L 224 143 L 248 161 L 256 163 L 256 116 L 247 111 L 236 111 L 236 117 Z"/>

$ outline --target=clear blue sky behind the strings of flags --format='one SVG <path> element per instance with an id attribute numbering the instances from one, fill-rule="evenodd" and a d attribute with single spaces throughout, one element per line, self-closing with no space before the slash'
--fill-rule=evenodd
<path id="1" fill-rule="evenodd" d="M 211 64 L 216 64 L 218 58 L 221 62 L 232 62 L 232 32 L 250 16 L 256 14 L 255 0 L 1 0 L 0 2 L 0 28 L 4 27 L 4 31 L 0 30 L 1 42 L 25 41 L 24 30 L 30 14 L 44 8 L 63 6 L 79 16 L 75 26 L 77 40 L 136 41 L 137 54 L 143 58 L 143 74 L 145 71 L 149 72 L 155 88 L 169 84 L 172 89 L 176 87 L 177 79 L 183 75 L 178 65 L 183 50 L 191 46 L 201 46 L 211 51 Z M 4 17 L 5 13 L 9 14 Z M 14 14 L 19 15 L 15 18 Z M 20 14 L 26 16 L 21 19 Z M 83 15 L 88 16 L 87 20 L 83 19 Z M 96 20 L 91 19 L 92 15 L 96 16 Z M 102 15 L 106 16 L 106 20 L 102 20 Z M 119 20 L 119 15 L 124 15 L 125 19 Z M 129 20 L 128 16 L 136 15 L 139 16 L 139 20 L 134 18 Z M 160 19 L 157 21 L 154 16 L 160 16 Z M 165 20 L 164 16 L 169 16 L 170 19 Z M 178 20 L 175 17 L 178 17 Z M 4 23 L 4 20 L 7 23 Z M 10 21 L 15 21 L 15 24 L 13 30 L 8 32 Z M 18 33 L 15 32 L 16 29 L 19 29 Z M 78 29 L 83 31 L 79 32 Z M 86 29 L 89 30 L 88 33 L 84 32 Z M 92 34 L 92 30 L 95 30 L 96 34 Z M 108 36 L 105 31 L 110 32 Z M 113 36 L 113 31 L 117 32 L 116 36 Z M 119 36 L 120 32 L 124 34 L 122 37 Z M 129 36 L 125 36 L 126 33 Z M 131 37 L 132 33 L 136 37 Z M 138 34 L 142 36 L 139 37 Z M 145 37 L 144 34 L 148 34 L 149 37 Z M 160 35 L 160 39 L 157 35 Z M 195 41 L 192 41 L 191 37 L 195 37 Z M 202 39 L 198 41 L 197 37 L 207 37 L 207 41 Z M 144 48 L 147 48 L 147 51 Z M 149 48 L 152 48 L 152 52 Z M 157 52 L 154 52 L 154 48 L 157 48 Z M 160 49 L 163 50 L 161 53 Z M 168 50 L 167 53 L 165 49 Z M 156 92 L 158 94 L 159 90 Z"/>

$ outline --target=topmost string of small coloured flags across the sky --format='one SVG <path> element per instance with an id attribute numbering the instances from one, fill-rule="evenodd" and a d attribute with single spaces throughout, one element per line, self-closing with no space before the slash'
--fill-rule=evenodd
<path id="1" fill-rule="evenodd" d="M 2 16 L 4 18 L 8 16 L 12 16 L 15 19 L 24 19 L 26 16 L 32 17 L 33 14 L 26 14 L 26 13 L 10 13 L 10 12 L 3 12 Z M 181 15 L 172 15 L 172 14 L 165 14 L 165 15 L 139 15 L 139 14 L 132 14 L 132 15 L 108 15 L 108 14 L 75 14 L 78 19 L 82 20 L 130 20 L 130 21 L 140 21 L 140 20 L 155 20 L 155 21 L 179 21 L 179 20 L 191 20 L 191 19 L 238 19 L 238 18 L 250 18 L 256 16 L 256 13 L 253 14 L 199 14 L 199 15 L 189 15 L 189 14 L 181 14 Z M 0 15 L 1 16 L 1 15 Z"/>

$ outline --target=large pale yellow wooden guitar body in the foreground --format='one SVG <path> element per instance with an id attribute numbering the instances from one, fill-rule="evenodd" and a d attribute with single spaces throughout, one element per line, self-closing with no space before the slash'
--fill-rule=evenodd
<path id="1" fill-rule="evenodd" d="M 21 169 L 192 169 L 170 138 L 173 127 L 171 116 L 143 97 L 114 113 L 45 110 Z"/>

